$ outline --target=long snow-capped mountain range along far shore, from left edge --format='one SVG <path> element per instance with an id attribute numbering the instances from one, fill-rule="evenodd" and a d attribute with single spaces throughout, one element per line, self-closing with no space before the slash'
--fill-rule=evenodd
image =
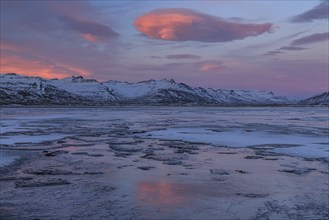
<path id="1" fill-rule="evenodd" d="M 204 89 L 174 80 L 98 82 L 82 76 L 43 79 L 0 75 L 0 104 L 58 105 L 284 105 L 291 99 L 267 91 Z"/>

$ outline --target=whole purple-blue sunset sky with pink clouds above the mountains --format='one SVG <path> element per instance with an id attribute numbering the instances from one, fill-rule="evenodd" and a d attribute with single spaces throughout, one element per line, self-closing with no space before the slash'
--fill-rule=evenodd
<path id="1" fill-rule="evenodd" d="M 328 0 L 1 0 L 1 73 L 308 97 L 329 90 Z"/>

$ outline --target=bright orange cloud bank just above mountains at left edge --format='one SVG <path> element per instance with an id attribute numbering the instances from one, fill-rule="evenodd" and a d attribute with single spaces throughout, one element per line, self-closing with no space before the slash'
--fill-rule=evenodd
<path id="1" fill-rule="evenodd" d="M 41 76 L 44 78 L 62 78 L 73 74 L 88 75 L 79 68 L 56 65 L 48 61 L 29 60 L 18 56 L 1 54 L 1 73 L 18 73 L 27 76 Z"/>

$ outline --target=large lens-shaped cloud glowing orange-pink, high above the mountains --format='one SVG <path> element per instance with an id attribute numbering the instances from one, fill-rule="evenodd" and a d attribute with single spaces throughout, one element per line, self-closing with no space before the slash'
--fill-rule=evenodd
<path id="1" fill-rule="evenodd" d="M 240 23 L 188 9 L 158 9 L 134 22 L 149 38 L 168 41 L 229 42 L 273 31 L 273 24 Z"/>

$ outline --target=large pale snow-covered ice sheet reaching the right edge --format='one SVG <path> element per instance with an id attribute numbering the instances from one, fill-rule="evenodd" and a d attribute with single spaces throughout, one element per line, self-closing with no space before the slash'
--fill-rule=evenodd
<path id="1" fill-rule="evenodd" d="M 265 132 L 244 132 L 233 130 L 216 132 L 204 128 L 171 128 L 152 131 L 145 134 L 151 138 L 165 140 L 183 140 L 201 142 L 226 147 L 250 147 L 255 145 L 300 145 L 289 148 L 278 148 L 274 152 L 300 157 L 328 157 L 328 137 L 301 136 L 296 134 L 269 134 Z M 322 144 L 319 144 L 322 143 Z"/>

